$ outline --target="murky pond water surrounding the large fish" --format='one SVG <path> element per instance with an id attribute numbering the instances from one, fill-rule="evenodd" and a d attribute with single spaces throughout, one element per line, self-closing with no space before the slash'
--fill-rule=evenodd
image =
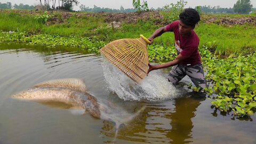
<path id="1" fill-rule="evenodd" d="M 143 93 L 122 97 L 106 82 L 102 62 L 100 55 L 79 49 L 1 44 L 0 143 L 256 143 L 255 115 L 237 119 L 220 114 L 211 108 L 210 99 L 189 97 L 193 94 L 183 88 L 177 91 L 182 93 L 179 97 L 152 100 L 159 94 L 150 97 L 150 90 L 143 100 L 135 99 Z M 166 77 L 169 70 L 155 75 Z M 63 103 L 12 98 L 33 85 L 61 78 L 83 79 L 99 102 L 115 107 L 104 114 L 111 118 L 94 118 Z"/>

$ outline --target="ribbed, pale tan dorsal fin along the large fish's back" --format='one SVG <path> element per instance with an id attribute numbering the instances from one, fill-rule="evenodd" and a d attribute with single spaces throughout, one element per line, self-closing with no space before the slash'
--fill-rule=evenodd
<path id="1" fill-rule="evenodd" d="M 62 87 L 81 92 L 87 92 L 83 79 L 79 78 L 55 79 L 52 81 L 39 83 L 34 87 Z"/>

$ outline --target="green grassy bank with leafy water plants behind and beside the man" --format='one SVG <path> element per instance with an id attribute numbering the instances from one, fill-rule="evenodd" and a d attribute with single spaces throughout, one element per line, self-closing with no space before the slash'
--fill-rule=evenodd
<path id="1" fill-rule="evenodd" d="M 109 14 L 85 12 L 35 12 L 0 10 L 0 43 L 19 42 L 68 46 L 99 53 L 110 41 L 150 36 L 170 22 L 159 12 Z M 255 15 L 202 14 L 196 26 L 199 51 L 207 69 L 207 93 L 215 108 L 236 116 L 255 113 L 256 23 Z M 173 34 L 165 33 L 148 46 L 151 62 L 170 61 L 177 55 Z M 195 88 L 194 88 L 195 89 Z M 196 90 L 196 89 L 195 89 Z"/>

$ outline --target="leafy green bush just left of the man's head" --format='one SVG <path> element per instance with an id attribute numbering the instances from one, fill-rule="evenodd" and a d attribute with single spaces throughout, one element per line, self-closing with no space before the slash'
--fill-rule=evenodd
<path id="1" fill-rule="evenodd" d="M 170 22 L 178 20 L 179 14 L 182 12 L 186 4 L 187 2 L 184 0 L 180 0 L 176 4 L 166 4 L 163 7 L 164 11 L 162 12 L 164 19 Z"/>

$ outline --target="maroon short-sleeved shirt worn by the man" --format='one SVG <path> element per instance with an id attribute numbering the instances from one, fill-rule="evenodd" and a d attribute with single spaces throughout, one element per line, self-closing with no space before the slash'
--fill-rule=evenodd
<path id="1" fill-rule="evenodd" d="M 201 63 L 201 56 L 198 51 L 199 38 L 194 30 L 191 35 L 182 37 L 179 33 L 179 20 L 173 21 L 166 26 L 167 31 L 173 31 L 175 37 L 175 48 L 178 54 L 181 54 L 186 59 L 181 61 L 183 65 L 196 65 Z"/>

